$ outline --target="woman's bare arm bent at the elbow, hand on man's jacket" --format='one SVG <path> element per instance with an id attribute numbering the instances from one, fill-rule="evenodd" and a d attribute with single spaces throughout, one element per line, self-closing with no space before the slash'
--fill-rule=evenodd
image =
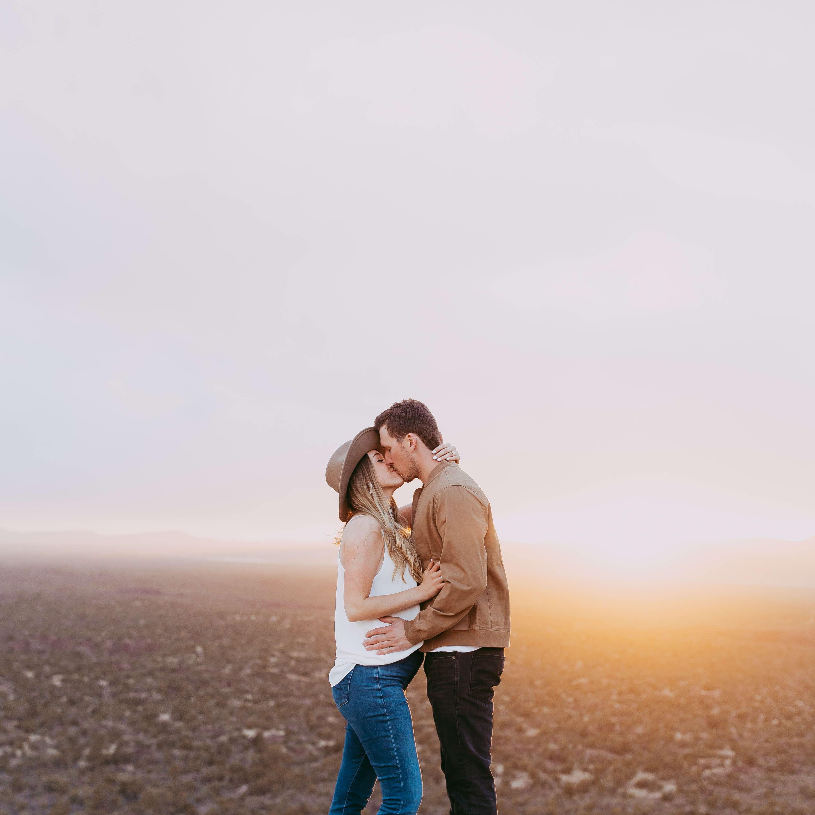
<path id="1" fill-rule="evenodd" d="M 369 597 L 384 546 L 379 524 L 373 518 L 359 516 L 359 521 L 352 518 L 342 532 L 341 557 L 346 572 L 343 591 L 346 616 L 351 623 L 392 615 L 430 600 L 441 591 L 441 570 L 438 563 L 431 563 L 420 586 L 396 594 Z"/>

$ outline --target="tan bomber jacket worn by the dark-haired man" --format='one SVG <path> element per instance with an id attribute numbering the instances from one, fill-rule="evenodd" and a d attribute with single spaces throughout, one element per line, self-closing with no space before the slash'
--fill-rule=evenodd
<path id="1" fill-rule="evenodd" d="M 463 469 L 443 461 L 413 494 L 411 538 L 424 569 L 434 557 L 444 586 L 405 623 L 421 650 L 509 645 L 509 588 L 487 496 Z"/>

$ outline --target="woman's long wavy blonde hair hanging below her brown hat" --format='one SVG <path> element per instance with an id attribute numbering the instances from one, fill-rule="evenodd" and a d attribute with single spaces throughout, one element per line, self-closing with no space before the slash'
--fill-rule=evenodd
<path id="1" fill-rule="evenodd" d="M 351 508 L 349 521 L 354 515 L 368 515 L 379 524 L 382 540 L 385 541 L 390 559 L 394 562 L 394 579 L 396 575 L 404 575 L 407 569 L 416 583 L 421 583 L 421 561 L 410 542 L 410 532 L 399 523 L 399 508 L 396 501 L 391 498 L 389 503 L 385 498 L 368 454 L 359 460 L 351 474 L 348 483 L 348 503 Z M 340 542 L 339 538 L 340 535 L 337 535 L 336 543 Z"/>

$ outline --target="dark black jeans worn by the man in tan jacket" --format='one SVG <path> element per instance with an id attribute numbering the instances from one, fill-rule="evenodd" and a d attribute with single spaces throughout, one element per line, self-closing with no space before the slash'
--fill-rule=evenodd
<path id="1" fill-rule="evenodd" d="M 503 648 L 425 654 L 450 815 L 496 815 L 490 772 L 492 696 L 504 670 Z"/>

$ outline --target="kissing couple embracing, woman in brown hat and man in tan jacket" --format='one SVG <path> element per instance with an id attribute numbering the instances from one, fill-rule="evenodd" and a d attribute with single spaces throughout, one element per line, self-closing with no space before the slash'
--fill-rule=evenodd
<path id="1" fill-rule="evenodd" d="M 509 590 L 487 496 L 416 399 L 380 413 L 331 456 L 345 523 L 337 553 L 337 661 L 346 720 L 329 815 L 416 815 L 421 770 L 405 689 L 425 663 L 451 815 L 496 815 L 492 696 L 509 645 Z M 394 491 L 418 478 L 412 505 Z M 382 626 L 381 623 L 386 623 Z"/>

